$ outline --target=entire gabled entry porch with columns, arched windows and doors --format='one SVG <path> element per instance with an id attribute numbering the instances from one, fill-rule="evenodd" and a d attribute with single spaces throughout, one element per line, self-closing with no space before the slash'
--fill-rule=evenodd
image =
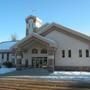
<path id="1" fill-rule="evenodd" d="M 32 34 L 17 44 L 16 68 L 46 68 L 54 71 L 56 44 L 38 34 Z"/>

